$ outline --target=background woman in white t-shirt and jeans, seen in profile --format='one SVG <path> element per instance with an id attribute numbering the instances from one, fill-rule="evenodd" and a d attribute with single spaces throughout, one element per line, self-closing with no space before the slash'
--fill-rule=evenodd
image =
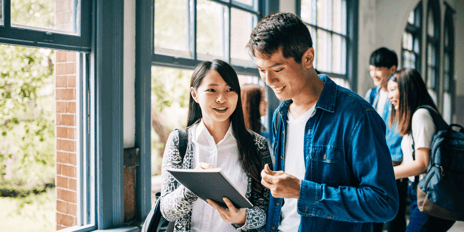
<path id="1" fill-rule="evenodd" d="M 437 107 L 427 92 L 427 87 L 419 72 L 414 69 L 402 69 L 394 73 L 388 81 L 388 97 L 393 104 L 390 125 L 398 121 L 398 130 L 403 140 L 403 162 L 393 167 L 396 179 L 409 178 L 409 197 L 411 199 L 410 221 L 406 231 L 447 231 L 454 221 L 424 214 L 417 207 L 417 182 L 427 171 L 430 160 L 430 147 L 436 132 L 432 116 L 426 109 L 417 109 L 429 105 L 437 112 Z M 414 136 L 414 151 L 412 149 Z M 413 159 L 413 152 L 415 159 Z"/>

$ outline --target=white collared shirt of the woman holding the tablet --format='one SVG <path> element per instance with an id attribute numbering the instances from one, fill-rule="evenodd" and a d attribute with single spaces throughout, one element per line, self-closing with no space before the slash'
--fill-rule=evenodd
<path id="1" fill-rule="evenodd" d="M 224 175 L 245 196 L 248 177 L 240 165 L 237 140 L 232 133 L 232 123 L 224 138 L 217 144 L 203 121 L 192 126 L 192 129 L 195 135 L 192 138 L 192 168 L 194 169 L 199 162 L 221 168 Z M 230 223 L 222 220 L 217 210 L 200 198 L 193 203 L 191 229 L 192 232 L 237 231 Z"/>

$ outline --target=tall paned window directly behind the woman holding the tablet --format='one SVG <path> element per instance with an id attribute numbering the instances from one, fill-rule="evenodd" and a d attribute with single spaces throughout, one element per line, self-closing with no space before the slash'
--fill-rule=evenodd
<path id="1" fill-rule="evenodd" d="M 152 183 L 159 183 L 156 175 L 167 136 L 187 123 L 193 68 L 204 60 L 221 59 L 242 80 L 259 79 L 245 47 L 261 15 L 257 0 L 155 0 L 154 4 L 151 173 Z M 156 190 L 159 186 L 154 184 L 152 191 Z"/>

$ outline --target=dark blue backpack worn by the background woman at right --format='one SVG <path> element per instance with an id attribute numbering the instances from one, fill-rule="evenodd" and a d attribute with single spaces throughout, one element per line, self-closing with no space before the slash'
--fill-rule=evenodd
<path id="1" fill-rule="evenodd" d="M 421 108 L 429 111 L 437 132 L 431 143 L 427 173 L 417 187 L 417 206 L 434 217 L 464 221 L 464 127 L 448 126 L 432 107 Z M 453 126 L 460 131 L 454 131 Z M 414 138 L 412 149 L 415 159 Z"/>

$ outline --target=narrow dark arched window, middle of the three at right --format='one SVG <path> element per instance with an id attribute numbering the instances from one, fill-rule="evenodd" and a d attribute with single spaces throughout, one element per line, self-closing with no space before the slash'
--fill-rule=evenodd
<path id="1" fill-rule="evenodd" d="M 440 6 L 438 1 L 429 1 L 427 7 L 426 34 L 427 72 L 425 75 L 425 81 L 430 96 L 437 104 L 440 86 Z"/>

